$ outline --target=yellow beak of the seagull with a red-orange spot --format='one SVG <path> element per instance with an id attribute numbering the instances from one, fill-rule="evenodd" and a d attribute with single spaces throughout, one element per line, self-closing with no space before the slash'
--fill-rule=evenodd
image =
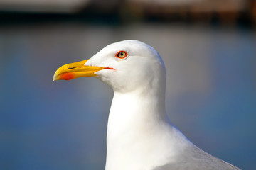
<path id="1" fill-rule="evenodd" d="M 104 67 L 85 66 L 85 62 L 87 60 L 63 65 L 53 75 L 53 81 L 61 79 L 70 80 L 78 77 L 94 77 L 97 76 L 95 72 L 105 69 Z"/>

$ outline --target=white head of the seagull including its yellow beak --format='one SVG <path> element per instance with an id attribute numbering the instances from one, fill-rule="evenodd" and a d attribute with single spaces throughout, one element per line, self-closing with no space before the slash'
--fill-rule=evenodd
<path id="1" fill-rule="evenodd" d="M 129 92 L 165 84 L 165 67 L 153 47 L 138 40 L 124 40 L 104 47 L 89 60 L 65 64 L 53 81 L 97 77 L 114 91 Z M 147 88 L 148 87 L 148 88 Z"/>

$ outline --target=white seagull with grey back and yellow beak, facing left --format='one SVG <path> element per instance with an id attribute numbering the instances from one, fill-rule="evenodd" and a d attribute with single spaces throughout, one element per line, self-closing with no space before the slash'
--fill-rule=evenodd
<path id="1" fill-rule="evenodd" d="M 165 109 L 166 70 L 153 47 L 124 40 L 89 60 L 65 64 L 53 81 L 96 77 L 114 91 L 105 170 L 239 169 L 193 145 Z"/>

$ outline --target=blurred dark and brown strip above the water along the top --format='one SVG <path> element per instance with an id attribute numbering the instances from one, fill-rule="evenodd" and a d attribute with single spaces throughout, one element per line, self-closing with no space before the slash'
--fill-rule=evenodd
<path id="1" fill-rule="evenodd" d="M 0 18 L 6 23 L 61 18 L 101 23 L 137 21 L 212 23 L 256 26 L 255 0 L 1 0 Z M 50 17 L 49 17 L 50 16 Z"/>

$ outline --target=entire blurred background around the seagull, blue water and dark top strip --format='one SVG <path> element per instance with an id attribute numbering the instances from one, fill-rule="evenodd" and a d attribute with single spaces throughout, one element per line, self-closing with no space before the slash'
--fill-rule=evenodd
<path id="1" fill-rule="evenodd" d="M 0 169 L 104 169 L 113 92 L 58 67 L 135 39 L 166 64 L 166 111 L 195 145 L 256 159 L 256 2 L 0 0 Z"/>

